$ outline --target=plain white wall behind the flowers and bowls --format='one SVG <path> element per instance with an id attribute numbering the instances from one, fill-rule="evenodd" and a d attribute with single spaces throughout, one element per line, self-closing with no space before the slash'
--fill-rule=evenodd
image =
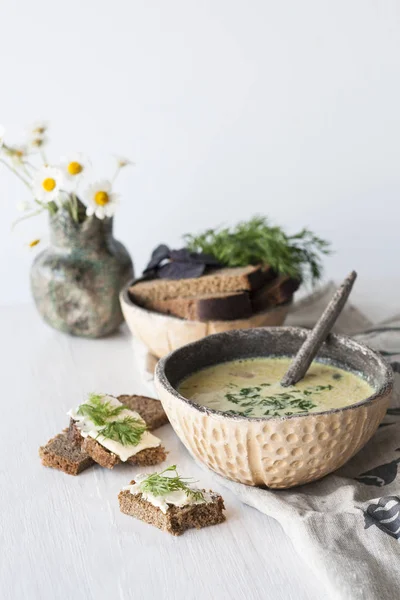
<path id="1" fill-rule="evenodd" d="M 400 5 L 396 0 L 3 0 L 0 122 L 48 119 L 50 154 L 121 174 L 116 234 L 141 270 L 159 242 L 264 213 L 330 239 L 336 279 L 398 304 Z M 0 166 L 1 167 L 1 166 Z M 10 222 L 26 191 L 0 168 L 0 303 L 30 300 Z M 397 284 L 397 288 L 396 288 Z"/>

